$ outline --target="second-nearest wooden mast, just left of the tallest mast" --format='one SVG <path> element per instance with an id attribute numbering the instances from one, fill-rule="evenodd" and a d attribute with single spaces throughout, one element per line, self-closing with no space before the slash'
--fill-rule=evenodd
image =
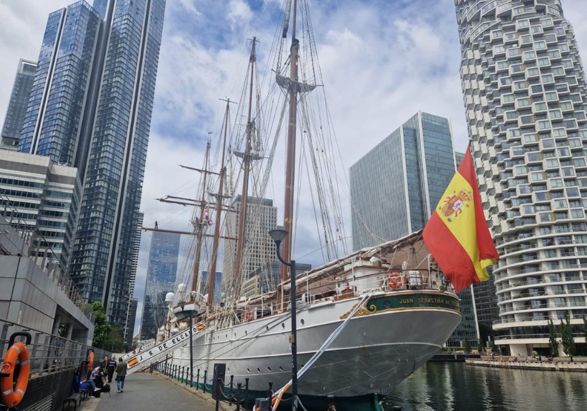
<path id="1" fill-rule="evenodd" d="M 251 65 L 251 83 L 249 85 L 249 110 L 247 116 L 247 137 L 245 139 L 245 153 L 242 159 L 243 177 L 242 177 L 242 194 L 241 194 L 241 210 L 238 213 L 238 234 L 237 234 L 237 264 L 235 265 L 234 275 L 238 277 L 242 266 L 242 248 L 245 242 L 245 220 L 247 220 L 247 205 L 248 205 L 248 191 L 249 191 L 249 171 L 251 170 L 251 133 L 252 133 L 252 99 L 253 99 L 253 78 L 255 72 L 255 42 L 257 38 L 253 37 L 253 45 L 251 48 L 251 56 L 249 63 Z M 236 290 L 235 290 L 236 292 Z"/>

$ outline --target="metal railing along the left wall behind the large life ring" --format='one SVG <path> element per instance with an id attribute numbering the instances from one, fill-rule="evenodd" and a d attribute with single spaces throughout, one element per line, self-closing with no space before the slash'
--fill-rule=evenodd
<path id="1" fill-rule="evenodd" d="M 28 349 L 31 364 L 29 379 L 79 368 L 84 362 L 87 366 L 89 351 L 94 353 L 94 367 L 99 365 L 104 355 L 110 355 L 110 352 L 74 339 L 0 319 L 0 358 L 4 358 L 10 348 L 11 338 L 13 342 L 25 343 Z M 82 369 L 82 376 L 85 371 Z"/>

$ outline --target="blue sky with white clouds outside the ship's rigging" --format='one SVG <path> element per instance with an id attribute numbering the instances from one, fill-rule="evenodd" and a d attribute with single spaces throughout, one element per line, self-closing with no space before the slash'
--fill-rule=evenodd
<path id="1" fill-rule="evenodd" d="M 71 0 L 0 0 L 0 119 L 20 58 L 36 60 L 47 16 Z M 281 0 L 167 0 L 141 210 L 144 225 L 190 230 L 187 207 L 155 198 L 193 197 L 208 132 L 221 124 L 257 36 L 268 53 Z M 583 59 L 587 1 L 564 0 Z M 350 167 L 418 110 L 448 117 L 455 148 L 467 142 L 454 0 L 316 0 L 312 22 L 343 161 Z M 237 79 L 238 78 L 238 79 Z M 350 224 L 347 224 L 350 227 Z M 150 233 L 143 235 L 136 295 L 142 298 Z M 188 247 L 187 242 L 184 244 Z M 295 257 L 295 256 L 294 256 Z M 142 304 L 140 302 L 139 308 Z M 139 309 L 139 312 L 141 309 Z"/>

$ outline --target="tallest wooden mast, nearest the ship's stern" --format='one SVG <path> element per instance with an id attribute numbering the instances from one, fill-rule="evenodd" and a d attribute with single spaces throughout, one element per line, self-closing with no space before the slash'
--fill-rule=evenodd
<path id="1" fill-rule="evenodd" d="M 296 146 L 296 122 L 297 122 L 297 105 L 298 105 L 298 58 L 299 58 L 299 40 L 295 38 L 296 14 L 298 2 L 294 0 L 294 16 L 292 18 L 292 45 L 290 48 L 289 61 L 289 122 L 288 122 L 288 140 L 286 148 L 285 164 L 285 200 L 284 200 L 284 230 L 289 233 L 282 241 L 281 255 L 285 261 L 291 261 L 292 239 L 294 233 L 294 181 L 295 181 L 295 146 Z M 291 275 L 295 276 L 295 272 Z M 281 265 L 281 281 L 288 279 L 288 267 Z M 294 297 L 292 297 L 294 298 Z"/>

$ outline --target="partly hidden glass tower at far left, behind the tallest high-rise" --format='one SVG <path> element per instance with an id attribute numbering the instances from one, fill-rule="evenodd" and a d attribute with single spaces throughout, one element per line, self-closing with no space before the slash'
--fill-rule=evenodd
<path id="1" fill-rule="evenodd" d="M 23 59 L 18 62 L 16 79 L 12 86 L 4 126 L 2 126 L 0 149 L 16 150 L 18 148 L 18 140 L 21 138 L 22 124 L 25 122 L 26 107 L 31 96 L 35 72 L 35 62 Z"/>

